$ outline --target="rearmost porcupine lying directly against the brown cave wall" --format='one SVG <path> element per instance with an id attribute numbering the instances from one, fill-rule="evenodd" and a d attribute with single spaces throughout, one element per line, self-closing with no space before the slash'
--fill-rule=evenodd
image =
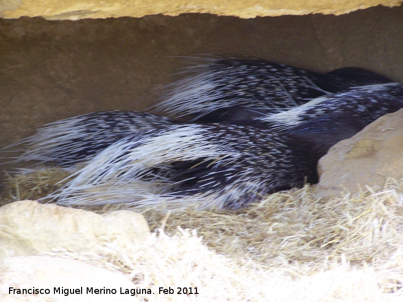
<path id="1" fill-rule="evenodd" d="M 188 59 L 193 64 L 183 73 L 190 75 L 165 87 L 154 113 L 190 115 L 198 122 L 245 120 L 287 111 L 350 87 L 392 82 L 356 67 L 325 74 L 249 56 Z"/>

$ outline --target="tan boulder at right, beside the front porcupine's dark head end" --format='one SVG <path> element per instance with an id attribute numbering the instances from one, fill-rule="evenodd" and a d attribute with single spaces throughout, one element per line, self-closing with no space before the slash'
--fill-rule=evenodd
<path id="1" fill-rule="evenodd" d="M 382 116 L 352 138 L 334 145 L 318 164 L 316 195 L 357 193 L 365 185 L 403 178 L 403 109 Z"/>

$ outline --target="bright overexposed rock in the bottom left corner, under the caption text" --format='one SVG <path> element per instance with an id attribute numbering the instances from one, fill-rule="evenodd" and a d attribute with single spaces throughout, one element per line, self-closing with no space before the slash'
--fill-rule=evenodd
<path id="1" fill-rule="evenodd" d="M 120 288 L 135 286 L 122 274 L 74 259 L 50 256 L 11 257 L 0 262 L 1 301 L 138 301 L 136 296 L 120 294 Z M 17 294 L 19 289 L 48 289 L 49 293 Z M 54 288 L 78 289 L 77 293 L 54 292 Z M 93 291 L 87 293 L 87 287 Z M 116 293 L 95 294 L 94 289 L 112 289 Z M 44 291 L 43 291 L 44 292 Z M 81 292 L 81 293 L 80 293 Z"/>

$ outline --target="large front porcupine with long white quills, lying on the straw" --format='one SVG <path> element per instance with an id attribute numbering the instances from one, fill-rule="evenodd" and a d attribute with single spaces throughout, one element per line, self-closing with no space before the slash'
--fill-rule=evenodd
<path id="1" fill-rule="evenodd" d="M 262 124 L 158 126 L 106 148 L 50 197 L 68 205 L 236 209 L 300 187 L 304 177 L 316 182 L 318 159 L 364 125 L 334 113 L 285 132 Z"/>

